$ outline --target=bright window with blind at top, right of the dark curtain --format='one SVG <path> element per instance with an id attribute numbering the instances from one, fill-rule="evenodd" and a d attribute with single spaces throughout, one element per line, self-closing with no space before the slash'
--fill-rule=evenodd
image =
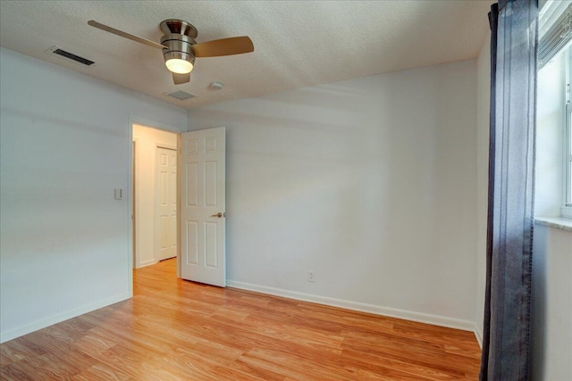
<path id="1" fill-rule="evenodd" d="M 572 219 L 572 3 L 539 14 L 536 213 Z"/>

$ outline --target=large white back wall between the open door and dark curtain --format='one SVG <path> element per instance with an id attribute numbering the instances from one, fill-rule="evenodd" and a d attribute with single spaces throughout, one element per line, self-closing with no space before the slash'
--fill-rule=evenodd
<path id="1" fill-rule="evenodd" d="M 227 127 L 231 285 L 473 329 L 475 87 L 467 61 L 190 111 Z"/>

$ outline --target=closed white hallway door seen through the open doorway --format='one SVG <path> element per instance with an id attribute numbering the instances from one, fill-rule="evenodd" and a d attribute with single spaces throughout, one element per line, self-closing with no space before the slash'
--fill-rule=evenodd
<path id="1" fill-rule="evenodd" d="M 177 255 L 177 151 L 157 147 L 155 259 Z"/>

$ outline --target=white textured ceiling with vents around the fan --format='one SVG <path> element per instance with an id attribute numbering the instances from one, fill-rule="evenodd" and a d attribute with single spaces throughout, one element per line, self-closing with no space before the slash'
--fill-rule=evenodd
<path id="1" fill-rule="evenodd" d="M 0 1 L 0 46 L 187 109 L 475 58 L 492 1 Z M 198 42 L 247 35 L 254 53 L 198 58 L 175 86 L 158 49 L 88 26 L 99 21 L 159 41 L 160 21 L 198 29 Z M 97 62 L 83 67 L 46 49 Z M 223 90 L 212 90 L 212 81 Z M 177 89 L 197 95 L 166 97 Z"/>

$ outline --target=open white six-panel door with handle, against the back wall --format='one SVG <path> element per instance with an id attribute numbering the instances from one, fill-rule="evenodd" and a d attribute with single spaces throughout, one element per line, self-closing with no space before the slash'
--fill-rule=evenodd
<path id="1" fill-rule="evenodd" d="M 181 134 L 181 277 L 226 286 L 225 128 Z"/>

